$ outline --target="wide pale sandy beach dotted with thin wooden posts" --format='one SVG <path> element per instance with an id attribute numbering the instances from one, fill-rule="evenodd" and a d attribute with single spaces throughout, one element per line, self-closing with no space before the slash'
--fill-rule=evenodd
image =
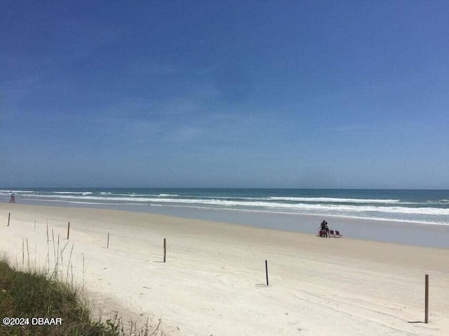
<path id="1" fill-rule="evenodd" d="M 47 222 L 55 244 L 52 237 L 47 244 Z M 58 236 L 60 249 L 67 243 L 67 222 L 60 274 L 69 270 L 71 277 L 74 246 L 74 280 L 98 310 L 138 321 L 149 316 L 152 325 L 161 319 L 164 335 L 449 335 L 448 249 L 154 214 L 0 204 L 0 252 L 18 267 L 34 266 L 35 255 L 36 265 L 48 267 L 48 256 L 53 267 Z M 428 324 L 422 323 L 424 274 L 430 279 Z"/>

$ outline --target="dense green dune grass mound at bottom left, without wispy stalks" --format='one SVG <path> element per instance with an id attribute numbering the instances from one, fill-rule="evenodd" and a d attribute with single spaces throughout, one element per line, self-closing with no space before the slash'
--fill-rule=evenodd
<path id="1" fill-rule="evenodd" d="M 0 335 L 121 335 L 118 319 L 93 320 L 76 286 L 43 272 L 15 270 L 5 260 L 0 261 L 0 316 L 22 317 L 24 324 L 1 323 Z M 60 325 L 33 325 L 36 317 Z M 50 318 L 60 318 L 62 323 Z"/>

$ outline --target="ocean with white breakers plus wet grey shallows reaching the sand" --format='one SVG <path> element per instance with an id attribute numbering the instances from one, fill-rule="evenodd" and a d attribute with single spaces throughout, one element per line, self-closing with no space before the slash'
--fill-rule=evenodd
<path id="1" fill-rule="evenodd" d="M 309 233 L 326 219 L 347 237 L 449 248 L 449 190 L 1 188 L 0 202 L 8 202 L 11 193 L 24 204 L 143 211 Z M 403 228 L 410 237 L 404 238 Z"/>

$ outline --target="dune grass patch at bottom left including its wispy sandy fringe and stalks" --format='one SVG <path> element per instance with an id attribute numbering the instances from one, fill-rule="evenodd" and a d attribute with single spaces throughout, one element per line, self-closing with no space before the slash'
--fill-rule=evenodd
<path id="1" fill-rule="evenodd" d="M 76 285 L 73 276 L 69 276 L 68 269 L 72 268 L 70 264 L 67 276 L 61 276 L 62 269 L 58 269 L 58 264 L 62 253 L 58 259 L 59 262 L 55 262 L 55 267 L 48 272 L 48 269 L 37 269 L 29 263 L 23 270 L 17 262 L 12 266 L 5 256 L 0 258 L 0 335 L 163 335 L 159 330 L 160 321 L 156 328 L 151 328 L 148 320 L 146 325 L 138 328 L 134 321 L 124 327 L 118 312 L 105 321 L 94 318 L 93 304 L 84 293 L 84 284 Z M 22 264 L 26 265 L 25 253 Z M 9 321 L 4 318 L 9 318 Z M 11 318 L 15 318 L 15 321 L 11 321 Z"/>

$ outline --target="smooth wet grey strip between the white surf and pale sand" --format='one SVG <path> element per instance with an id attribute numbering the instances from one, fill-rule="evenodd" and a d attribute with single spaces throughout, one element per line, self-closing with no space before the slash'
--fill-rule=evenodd
<path id="1" fill-rule="evenodd" d="M 171 206 L 134 206 L 102 204 L 41 204 L 21 203 L 36 207 L 64 207 L 77 209 L 109 209 L 142 214 L 159 214 L 177 218 L 229 223 L 234 225 L 269 228 L 288 232 L 316 234 L 319 223 L 326 219 L 331 230 L 339 230 L 346 238 L 366 241 L 384 241 L 410 246 L 449 248 L 449 225 L 424 224 L 408 221 L 321 216 L 316 214 L 275 214 L 263 211 L 234 211 L 229 209 L 198 209 Z M 62 204 L 61 204 L 62 203 Z M 1 204 L 1 203 L 0 203 Z M 16 203 L 18 204 L 18 203 Z"/>

